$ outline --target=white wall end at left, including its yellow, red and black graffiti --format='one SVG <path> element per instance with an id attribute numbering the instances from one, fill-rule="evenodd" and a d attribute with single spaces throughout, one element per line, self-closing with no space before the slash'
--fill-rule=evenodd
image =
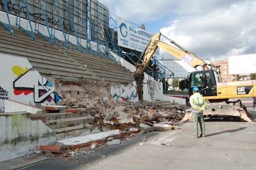
<path id="1" fill-rule="evenodd" d="M 0 53 L 0 61 L 0 110 L 4 108 L 4 99 L 33 106 L 55 105 L 62 100 L 54 92 L 55 86 L 34 70 L 27 59 Z"/>

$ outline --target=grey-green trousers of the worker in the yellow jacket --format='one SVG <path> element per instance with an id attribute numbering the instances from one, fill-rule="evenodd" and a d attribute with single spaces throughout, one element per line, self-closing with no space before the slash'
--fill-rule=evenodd
<path id="1" fill-rule="evenodd" d="M 200 126 L 201 134 L 205 134 L 205 119 L 202 113 L 192 114 L 193 119 L 193 135 L 198 136 L 198 123 Z"/>

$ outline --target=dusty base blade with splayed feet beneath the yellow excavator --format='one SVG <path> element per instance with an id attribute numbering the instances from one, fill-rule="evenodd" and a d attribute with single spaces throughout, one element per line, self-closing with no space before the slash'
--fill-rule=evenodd
<path id="1" fill-rule="evenodd" d="M 236 116 L 244 119 L 248 123 L 254 123 L 252 119 L 248 117 L 249 113 L 242 107 L 237 107 L 231 103 L 207 103 L 207 109 L 203 111 L 205 117 L 226 117 Z M 186 111 L 184 118 L 181 119 L 181 123 L 184 123 L 188 119 L 192 119 L 192 113 L 190 110 Z"/>

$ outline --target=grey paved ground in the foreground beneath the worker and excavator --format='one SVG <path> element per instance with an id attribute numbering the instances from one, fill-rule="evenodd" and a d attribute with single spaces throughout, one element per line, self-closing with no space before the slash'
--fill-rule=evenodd
<path id="1" fill-rule="evenodd" d="M 256 121 L 256 111 L 249 112 Z M 190 137 L 192 123 L 179 127 L 137 135 L 72 160 L 32 156 L 0 163 L 0 169 L 256 169 L 256 122 L 208 120 L 207 136 L 198 139 Z"/>

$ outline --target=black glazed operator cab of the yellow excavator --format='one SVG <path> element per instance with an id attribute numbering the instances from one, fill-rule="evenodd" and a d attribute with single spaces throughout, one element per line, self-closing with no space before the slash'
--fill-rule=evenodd
<path id="1" fill-rule="evenodd" d="M 193 87 L 198 87 L 203 96 L 217 95 L 217 81 L 215 71 L 201 70 L 190 73 L 189 76 L 189 96 L 192 95 Z"/>

